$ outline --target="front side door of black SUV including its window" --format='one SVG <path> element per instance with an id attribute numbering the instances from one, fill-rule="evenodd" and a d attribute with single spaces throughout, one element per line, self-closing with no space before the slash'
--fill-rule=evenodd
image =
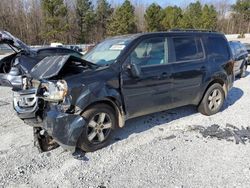
<path id="1" fill-rule="evenodd" d="M 172 68 L 167 60 L 167 39 L 153 37 L 142 40 L 125 64 L 130 63 L 140 67 L 141 75 L 135 78 L 126 68 L 122 73 L 122 92 L 129 117 L 170 108 Z"/>

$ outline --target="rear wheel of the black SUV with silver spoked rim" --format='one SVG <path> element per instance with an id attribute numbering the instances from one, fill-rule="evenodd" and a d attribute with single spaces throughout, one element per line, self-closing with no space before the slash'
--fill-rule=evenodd
<path id="1" fill-rule="evenodd" d="M 211 116 L 220 111 L 225 100 L 225 93 L 222 86 L 218 83 L 211 85 L 206 91 L 198 111 L 206 116 Z"/>

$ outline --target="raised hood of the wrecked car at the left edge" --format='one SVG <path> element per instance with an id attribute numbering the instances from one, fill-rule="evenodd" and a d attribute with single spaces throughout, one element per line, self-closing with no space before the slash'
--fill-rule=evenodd
<path id="1" fill-rule="evenodd" d="M 14 37 L 7 31 L 0 31 L 0 44 L 8 44 L 17 48 L 18 50 L 24 50 L 26 52 L 30 52 L 30 48 L 20 39 Z"/>

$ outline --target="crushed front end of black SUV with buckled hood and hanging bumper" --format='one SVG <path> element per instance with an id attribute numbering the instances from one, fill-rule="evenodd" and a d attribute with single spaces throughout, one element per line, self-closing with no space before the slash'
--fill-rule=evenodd
<path id="1" fill-rule="evenodd" d="M 72 69 L 76 72 L 82 70 L 81 73 L 89 70 L 88 64 L 76 57 L 47 57 L 22 81 L 22 89 L 14 92 L 14 109 L 26 124 L 34 128 L 34 143 L 42 152 L 59 145 L 74 152 L 86 124 L 81 116 L 82 110 L 72 102 L 79 93 L 71 92 L 63 79 L 74 76 Z M 74 85 L 77 91 L 84 88 L 79 81 L 72 83 L 70 85 Z"/>

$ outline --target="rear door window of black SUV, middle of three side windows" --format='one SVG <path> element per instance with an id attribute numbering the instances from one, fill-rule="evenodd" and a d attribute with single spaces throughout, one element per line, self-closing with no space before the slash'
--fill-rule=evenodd
<path id="1" fill-rule="evenodd" d="M 173 48 L 177 62 L 197 60 L 204 57 L 201 40 L 196 37 L 173 38 Z"/>

